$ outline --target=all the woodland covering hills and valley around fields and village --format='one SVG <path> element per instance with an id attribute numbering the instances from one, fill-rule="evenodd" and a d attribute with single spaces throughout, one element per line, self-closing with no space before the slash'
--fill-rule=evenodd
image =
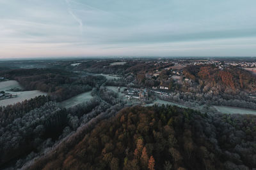
<path id="1" fill-rule="evenodd" d="M 173 80 L 173 62 L 115 62 L 63 60 L 47 68 L 0 69 L 0 77 L 18 81 L 24 90 L 48 94 L 0 107 L 0 169 L 256 167 L 256 117 L 220 114 L 211 107 L 256 109 L 255 99 L 248 97 L 255 92 L 252 74 L 207 64 L 182 66 L 182 79 Z M 134 104 L 108 86 L 168 87 L 163 90 L 168 96 L 148 90 L 151 97 L 145 104 L 162 99 L 190 109 Z M 61 106 L 61 101 L 89 91 L 90 101 Z"/>

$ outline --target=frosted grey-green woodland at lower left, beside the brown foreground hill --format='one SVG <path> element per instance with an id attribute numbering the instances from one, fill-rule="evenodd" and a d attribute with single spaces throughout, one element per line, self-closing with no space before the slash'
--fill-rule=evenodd
<path id="1" fill-rule="evenodd" d="M 102 78 L 94 81 L 95 86 Z M 93 99 L 61 108 L 51 96 L 38 96 L 0 107 L 0 167 L 18 169 L 98 115 L 106 117 L 124 107 L 106 88 L 92 90 Z M 100 98 L 100 97 L 101 98 Z"/>

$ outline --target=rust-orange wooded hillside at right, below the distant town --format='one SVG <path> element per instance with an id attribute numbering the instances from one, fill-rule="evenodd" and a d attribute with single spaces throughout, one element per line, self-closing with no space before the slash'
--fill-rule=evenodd
<path id="1" fill-rule="evenodd" d="M 187 66 L 183 73 L 198 82 L 202 89 L 214 87 L 220 92 L 256 92 L 255 76 L 239 67 Z"/>

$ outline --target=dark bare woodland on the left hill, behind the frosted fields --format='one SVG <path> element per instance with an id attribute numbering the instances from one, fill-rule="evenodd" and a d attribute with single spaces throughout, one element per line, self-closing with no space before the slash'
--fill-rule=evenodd
<path id="1" fill-rule="evenodd" d="M 106 81 L 104 76 L 81 77 L 63 69 L 12 69 L 0 72 L 0 76 L 17 80 L 25 90 L 47 92 L 58 102 L 88 92 Z"/>

